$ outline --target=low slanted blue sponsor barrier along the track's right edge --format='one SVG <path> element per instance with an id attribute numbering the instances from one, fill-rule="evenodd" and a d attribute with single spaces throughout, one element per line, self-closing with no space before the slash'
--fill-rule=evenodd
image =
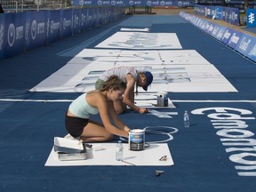
<path id="1" fill-rule="evenodd" d="M 202 29 L 205 33 L 215 37 L 221 43 L 228 45 L 236 52 L 256 62 L 256 37 L 236 31 L 232 28 L 222 27 L 208 20 L 197 18 L 195 15 L 180 12 L 180 17 Z"/>

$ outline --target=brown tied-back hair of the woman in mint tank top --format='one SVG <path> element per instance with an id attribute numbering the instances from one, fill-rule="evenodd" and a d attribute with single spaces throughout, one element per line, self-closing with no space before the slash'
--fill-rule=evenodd
<path id="1" fill-rule="evenodd" d="M 115 91 L 125 89 L 126 84 L 120 78 L 118 78 L 118 76 L 109 76 L 108 80 L 104 82 L 100 91 L 108 91 L 111 88 L 113 88 Z"/>

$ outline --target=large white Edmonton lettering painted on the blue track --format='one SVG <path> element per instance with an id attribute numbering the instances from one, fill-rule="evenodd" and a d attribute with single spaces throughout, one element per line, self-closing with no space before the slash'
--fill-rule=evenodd
<path id="1" fill-rule="evenodd" d="M 197 108 L 191 113 L 194 115 L 208 114 L 214 129 L 218 129 L 216 134 L 220 136 L 222 145 L 228 147 L 225 149 L 226 152 L 232 153 L 229 160 L 240 164 L 235 166 L 236 170 L 239 170 L 237 172 L 239 176 L 256 176 L 256 166 L 254 166 L 256 160 L 253 161 L 253 157 L 256 157 L 256 140 L 252 139 L 255 134 L 246 130 L 248 124 L 244 122 L 244 120 L 255 120 L 255 117 L 248 116 L 252 115 L 252 111 L 242 108 L 219 107 Z"/>

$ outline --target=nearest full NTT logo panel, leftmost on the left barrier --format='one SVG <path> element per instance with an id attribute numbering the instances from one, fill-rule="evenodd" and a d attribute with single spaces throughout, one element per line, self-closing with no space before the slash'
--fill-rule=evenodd
<path id="1" fill-rule="evenodd" d="M 8 13 L 4 18 L 4 58 L 24 52 L 25 14 Z"/>

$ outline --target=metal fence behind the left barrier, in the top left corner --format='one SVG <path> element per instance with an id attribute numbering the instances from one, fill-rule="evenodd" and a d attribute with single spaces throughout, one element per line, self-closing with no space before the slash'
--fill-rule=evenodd
<path id="1" fill-rule="evenodd" d="M 67 9 L 71 0 L 1 0 L 4 13 Z"/>

